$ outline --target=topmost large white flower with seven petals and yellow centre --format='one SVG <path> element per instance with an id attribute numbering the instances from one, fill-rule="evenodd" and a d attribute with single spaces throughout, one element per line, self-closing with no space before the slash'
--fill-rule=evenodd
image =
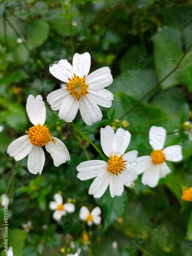
<path id="1" fill-rule="evenodd" d="M 91 125 L 102 118 L 98 105 L 110 108 L 113 94 L 104 89 L 113 82 L 108 67 L 100 68 L 88 75 L 91 67 L 91 56 L 88 52 L 75 53 L 73 66 L 67 59 L 61 59 L 50 65 L 50 73 L 62 82 L 65 87 L 47 96 L 52 110 L 59 110 L 59 118 L 72 122 L 79 109 L 83 121 Z"/>

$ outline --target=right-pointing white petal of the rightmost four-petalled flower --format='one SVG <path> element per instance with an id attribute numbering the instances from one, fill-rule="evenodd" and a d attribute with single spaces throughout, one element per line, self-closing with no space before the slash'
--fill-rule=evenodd
<path id="1" fill-rule="evenodd" d="M 168 146 L 164 148 L 163 154 L 168 161 L 179 162 L 183 159 L 182 147 L 180 145 Z"/>

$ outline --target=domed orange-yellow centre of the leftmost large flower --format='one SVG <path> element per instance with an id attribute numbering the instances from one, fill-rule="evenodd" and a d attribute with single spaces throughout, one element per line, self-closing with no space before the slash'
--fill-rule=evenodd
<path id="1" fill-rule="evenodd" d="M 32 126 L 26 133 L 28 133 L 27 138 L 34 146 L 45 146 L 49 141 L 54 141 L 54 139 L 51 139 L 48 127 L 46 125 L 40 125 L 40 123 Z"/>

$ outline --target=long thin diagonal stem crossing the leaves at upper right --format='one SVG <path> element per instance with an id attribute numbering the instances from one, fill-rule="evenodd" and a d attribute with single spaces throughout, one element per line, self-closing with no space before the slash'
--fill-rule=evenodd
<path id="1" fill-rule="evenodd" d="M 164 78 L 162 78 L 162 79 L 156 84 L 156 86 L 155 86 L 151 91 L 149 91 L 147 94 L 145 94 L 139 101 L 137 101 L 137 102 L 132 106 L 131 109 L 129 109 L 128 111 L 126 111 L 126 112 L 123 114 L 123 116 L 121 116 L 119 119 L 122 119 L 125 115 L 128 115 L 130 112 L 132 112 L 132 111 L 135 109 L 135 107 L 136 107 L 137 105 L 139 105 L 139 104 L 143 101 L 143 99 L 145 99 L 148 95 L 150 95 L 150 94 L 152 94 L 154 91 L 156 91 L 156 89 L 158 89 L 158 88 L 160 87 L 160 84 L 161 84 L 164 80 L 166 80 L 170 75 L 172 75 L 172 74 L 179 68 L 180 63 L 181 63 L 182 60 L 185 58 L 185 56 L 186 56 L 187 52 L 189 51 L 189 49 L 191 48 L 191 46 L 192 46 L 192 42 L 191 42 L 191 44 L 189 45 L 189 47 L 186 49 L 186 51 L 184 52 L 183 56 L 181 57 L 181 59 L 180 59 L 179 62 L 177 63 L 176 67 L 175 67 L 172 71 L 170 71 Z"/>

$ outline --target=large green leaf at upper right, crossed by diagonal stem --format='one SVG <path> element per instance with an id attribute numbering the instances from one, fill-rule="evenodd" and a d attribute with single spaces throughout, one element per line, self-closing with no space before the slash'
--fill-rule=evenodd
<path id="1" fill-rule="evenodd" d="M 159 80 L 172 71 L 181 59 L 181 34 L 174 28 L 167 28 L 152 36 L 154 44 L 154 62 Z M 183 82 L 183 71 L 176 70 L 161 83 L 163 89 L 176 86 Z"/>

